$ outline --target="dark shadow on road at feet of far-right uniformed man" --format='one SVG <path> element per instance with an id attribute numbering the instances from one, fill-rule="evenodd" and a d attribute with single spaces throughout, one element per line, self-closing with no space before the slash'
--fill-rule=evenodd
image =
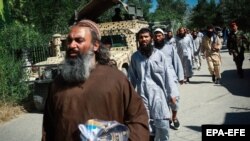
<path id="1" fill-rule="evenodd" d="M 226 70 L 221 74 L 221 85 L 233 95 L 250 97 L 250 69 L 244 69 L 244 74 L 242 79 L 236 70 Z"/>

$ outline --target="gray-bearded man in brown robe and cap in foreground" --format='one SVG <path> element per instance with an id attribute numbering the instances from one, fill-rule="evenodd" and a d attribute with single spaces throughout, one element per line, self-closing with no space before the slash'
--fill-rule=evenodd
<path id="1" fill-rule="evenodd" d="M 108 65 L 100 37 L 89 20 L 70 29 L 65 62 L 46 100 L 42 141 L 80 141 L 78 126 L 90 119 L 117 121 L 129 128 L 129 140 L 149 140 L 143 101 L 127 77 Z"/>

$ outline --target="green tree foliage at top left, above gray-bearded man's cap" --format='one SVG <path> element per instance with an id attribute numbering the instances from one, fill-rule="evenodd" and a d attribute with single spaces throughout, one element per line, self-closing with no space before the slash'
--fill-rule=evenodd
<path id="1" fill-rule="evenodd" d="M 19 2 L 17 2 L 19 1 Z M 86 1 L 86 0 L 85 0 Z M 83 3 L 78 0 L 16 0 L 11 8 L 15 20 L 32 25 L 44 34 L 68 31 L 68 21 Z"/>

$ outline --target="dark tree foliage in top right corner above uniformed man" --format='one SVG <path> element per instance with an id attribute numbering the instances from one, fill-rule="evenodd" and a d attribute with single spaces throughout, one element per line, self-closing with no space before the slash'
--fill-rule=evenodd
<path id="1" fill-rule="evenodd" d="M 237 21 L 241 29 L 250 31 L 249 9 L 249 0 L 221 0 L 218 4 L 215 0 L 201 0 L 193 8 L 189 26 L 204 28 L 213 24 L 224 27 L 231 21 Z"/>

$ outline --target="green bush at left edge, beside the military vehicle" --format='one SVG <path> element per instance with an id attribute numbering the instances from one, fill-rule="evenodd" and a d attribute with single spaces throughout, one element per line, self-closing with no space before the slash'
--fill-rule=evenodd
<path id="1" fill-rule="evenodd" d="M 41 47 L 41 38 L 32 27 L 13 23 L 0 32 L 0 99 L 19 103 L 29 95 L 22 66 L 24 50 Z M 44 38 L 43 38 L 44 39 Z M 48 41 L 46 41 L 48 42 Z"/>

